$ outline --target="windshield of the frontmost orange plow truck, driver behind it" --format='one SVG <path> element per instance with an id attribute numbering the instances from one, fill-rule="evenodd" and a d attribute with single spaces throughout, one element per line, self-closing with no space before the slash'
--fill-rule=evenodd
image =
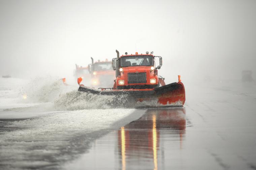
<path id="1" fill-rule="evenodd" d="M 150 66 L 154 65 L 153 56 L 140 55 L 140 56 L 124 56 L 121 57 L 121 67 L 129 66 Z"/>

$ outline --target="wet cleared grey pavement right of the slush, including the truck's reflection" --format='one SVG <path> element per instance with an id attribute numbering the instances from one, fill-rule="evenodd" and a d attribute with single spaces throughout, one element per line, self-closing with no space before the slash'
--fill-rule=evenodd
<path id="1" fill-rule="evenodd" d="M 149 109 L 63 168 L 256 169 L 254 86 L 199 88 L 184 108 Z"/>

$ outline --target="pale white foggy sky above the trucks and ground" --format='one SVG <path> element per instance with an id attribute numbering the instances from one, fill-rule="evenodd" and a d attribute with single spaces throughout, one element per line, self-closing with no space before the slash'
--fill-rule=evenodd
<path id="1" fill-rule="evenodd" d="M 0 75 L 72 76 L 120 54 L 163 57 L 167 82 L 256 79 L 256 1 L 0 1 Z"/>

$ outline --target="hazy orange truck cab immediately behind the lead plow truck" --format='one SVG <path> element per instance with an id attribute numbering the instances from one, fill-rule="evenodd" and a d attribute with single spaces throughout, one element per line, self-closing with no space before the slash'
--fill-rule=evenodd
<path id="1" fill-rule="evenodd" d="M 88 65 L 89 72 L 91 73 L 91 86 L 94 88 L 110 88 L 113 86 L 115 79 L 115 71 L 111 68 L 111 61 L 107 59 L 105 61 L 94 62 Z"/>

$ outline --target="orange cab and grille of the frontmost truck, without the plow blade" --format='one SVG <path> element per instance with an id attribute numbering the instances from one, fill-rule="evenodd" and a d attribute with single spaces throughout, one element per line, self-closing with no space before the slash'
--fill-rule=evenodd
<path id="1" fill-rule="evenodd" d="M 160 86 L 158 69 L 162 66 L 162 57 L 149 54 L 135 54 L 119 56 L 112 59 L 112 67 L 116 70 L 114 89 L 154 89 Z M 156 67 L 155 60 L 159 58 Z"/>

